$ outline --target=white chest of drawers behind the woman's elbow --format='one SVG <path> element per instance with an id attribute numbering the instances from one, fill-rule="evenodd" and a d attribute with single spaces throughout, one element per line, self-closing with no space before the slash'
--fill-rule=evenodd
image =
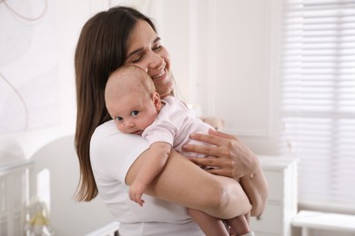
<path id="1" fill-rule="evenodd" d="M 258 236 L 290 236 L 291 221 L 297 214 L 297 159 L 260 156 L 269 184 L 265 211 L 250 221 Z"/>

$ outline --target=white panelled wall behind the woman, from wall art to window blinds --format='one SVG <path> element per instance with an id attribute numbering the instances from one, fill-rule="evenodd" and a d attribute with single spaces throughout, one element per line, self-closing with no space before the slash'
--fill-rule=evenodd
<path id="1" fill-rule="evenodd" d="M 223 118 L 225 131 L 238 134 L 254 152 L 276 152 L 278 77 L 273 68 L 278 61 L 272 44 L 277 38 L 272 37 L 278 30 L 279 1 L 271 0 L 57 0 L 61 124 L 0 135 L 0 152 L 29 158 L 43 144 L 74 133 L 78 34 L 90 15 L 120 2 L 143 5 L 143 11 L 157 20 L 172 57 L 177 89 L 187 103 L 198 103 L 205 115 Z"/>

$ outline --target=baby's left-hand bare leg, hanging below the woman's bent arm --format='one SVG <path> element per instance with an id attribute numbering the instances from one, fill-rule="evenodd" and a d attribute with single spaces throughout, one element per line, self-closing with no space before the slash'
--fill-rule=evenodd
<path id="1" fill-rule="evenodd" d="M 208 215 L 203 211 L 188 208 L 188 214 L 198 223 L 199 228 L 207 236 L 228 236 L 229 233 L 224 223 L 216 217 Z"/>

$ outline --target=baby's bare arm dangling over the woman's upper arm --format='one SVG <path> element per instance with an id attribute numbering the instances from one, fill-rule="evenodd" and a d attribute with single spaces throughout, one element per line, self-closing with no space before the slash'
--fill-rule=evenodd
<path id="1" fill-rule="evenodd" d="M 147 161 L 142 165 L 137 178 L 129 187 L 129 199 L 143 206 L 142 194 L 146 190 L 147 185 L 154 180 L 158 173 L 161 172 L 170 155 L 171 145 L 169 143 L 157 142 L 152 143 L 147 153 Z"/>

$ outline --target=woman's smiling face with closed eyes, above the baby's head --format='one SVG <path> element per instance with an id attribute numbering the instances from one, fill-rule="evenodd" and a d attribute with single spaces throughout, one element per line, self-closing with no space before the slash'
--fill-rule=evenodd
<path id="1" fill-rule="evenodd" d="M 157 33 L 144 20 L 137 21 L 128 38 L 125 64 L 135 64 L 145 70 L 152 78 L 161 97 L 172 91 L 170 56 L 167 49 L 161 45 Z"/>

